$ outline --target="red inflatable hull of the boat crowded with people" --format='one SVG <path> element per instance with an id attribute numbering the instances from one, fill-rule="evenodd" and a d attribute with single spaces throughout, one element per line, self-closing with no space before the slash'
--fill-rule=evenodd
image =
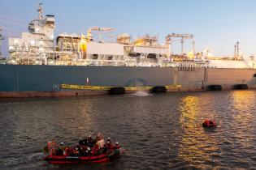
<path id="1" fill-rule="evenodd" d="M 86 164 L 86 163 L 104 163 L 111 159 L 117 159 L 124 153 L 123 148 L 114 149 L 102 155 L 73 156 L 73 155 L 47 155 L 44 160 L 50 164 Z"/>

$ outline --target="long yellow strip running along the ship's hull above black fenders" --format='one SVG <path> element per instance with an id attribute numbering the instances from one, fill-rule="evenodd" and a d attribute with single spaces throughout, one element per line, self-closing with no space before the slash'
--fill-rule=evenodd
<path id="1" fill-rule="evenodd" d="M 180 88 L 181 85 L 168 85 L 164 86 L 167 89 L 170 88 Z M 110 86 L 81 86 L 81 85 L 73 85 L 73 84 L 60 84 L 60 88 L 63 89 L 79 89 L 79 90 L 101 90 L 107 91 L 113 87 Z M 124 87 L 126 91 L 142 91 L 142 90 L 150 90 L 151 86 L 142 86 L 142 87 Z"/>

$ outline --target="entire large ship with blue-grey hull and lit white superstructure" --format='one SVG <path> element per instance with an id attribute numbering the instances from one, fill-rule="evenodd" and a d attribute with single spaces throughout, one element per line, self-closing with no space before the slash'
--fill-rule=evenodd
<path id="1" fill-rule="evenodd" d="M 54 38 L 54 15 L 43 15 L 28 23 L 28 32 L 9 38 L 9 57 L 0 64 L 0 97 L 80 96 L 106 92 L 110 88 L 167 91 L 256 88 L 254 57 L 245 60 L 239 44 L 232 57 L 210 57 L 196 53 L 193 35 L 117 36 L 114 28 L 92 27 L 86 33 L 59 34 Z M 180 40 L 181 53 L 172 43 Z M 184 53 L 184 40 L 192 50 Z"/>

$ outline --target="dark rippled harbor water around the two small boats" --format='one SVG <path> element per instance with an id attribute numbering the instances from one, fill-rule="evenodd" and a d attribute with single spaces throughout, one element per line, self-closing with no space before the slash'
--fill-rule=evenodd
<path id="1" fill-rule="evenodd" d="M 0 169 L 256 169 L 256 91 L 0 100 Z M 206 129 L 206 118 L 219 121 Z M 105 164 L 52 165 L 48 141 L 98 132 L 125 148 Z"/>

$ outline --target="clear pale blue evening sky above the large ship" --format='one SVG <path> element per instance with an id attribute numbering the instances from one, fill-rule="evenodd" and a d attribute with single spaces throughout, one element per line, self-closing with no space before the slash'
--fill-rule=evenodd
<path id="1" fill-rule="evenodd" d="M 256 55 L 255 0 L 0 0 L 0 27 L 7 38 L 27 32 L 42 2 L 45 15 L 55 15 L 55 37 L 62 32 L 86 32 L 93 26 L 115 28 L 115 35 L 193 34 L 197 52 L 209 49 L 215 56 L 233 56 L 238 40 L 241 53 Z M 192 48 L 185 40 L 185 50 Z M 180 52 L 180 43 L 173 45 Z"/>

